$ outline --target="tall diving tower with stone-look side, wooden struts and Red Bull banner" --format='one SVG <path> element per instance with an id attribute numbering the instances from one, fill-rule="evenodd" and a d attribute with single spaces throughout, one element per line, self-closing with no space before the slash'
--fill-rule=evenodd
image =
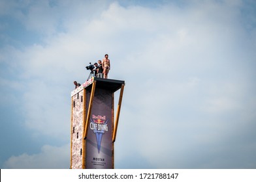
<path id="1" fill-rule="evenodd" d="M 124 81 L 91 77 L 71 92 L 71 168 L 114 168 L 124 85 Z M 117 90 L 120 97 L 114 121 Z"/>

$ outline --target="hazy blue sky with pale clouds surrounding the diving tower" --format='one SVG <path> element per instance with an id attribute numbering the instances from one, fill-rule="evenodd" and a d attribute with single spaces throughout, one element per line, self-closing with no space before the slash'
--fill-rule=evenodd
<path id="1" fill-rule="evenodd" d="M 115 168 L 256 168 L 255 49 L 253 0 L 0 0 L 0 168 L 70 167 L 73 81 L 106 53 Z"/>

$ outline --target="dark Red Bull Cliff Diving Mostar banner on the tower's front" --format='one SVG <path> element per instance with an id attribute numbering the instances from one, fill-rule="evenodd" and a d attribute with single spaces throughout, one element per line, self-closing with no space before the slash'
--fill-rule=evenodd
<path id="1" fill-rule="evenodd" d="M 86 105 L 89 105 L 90 90 L 87 90 Z M 113 94 L 110 90 L 97 88 L 89 119 L 86 138 L 86 168 L 106 169 L 114 167 L 112 143 Z"/>

